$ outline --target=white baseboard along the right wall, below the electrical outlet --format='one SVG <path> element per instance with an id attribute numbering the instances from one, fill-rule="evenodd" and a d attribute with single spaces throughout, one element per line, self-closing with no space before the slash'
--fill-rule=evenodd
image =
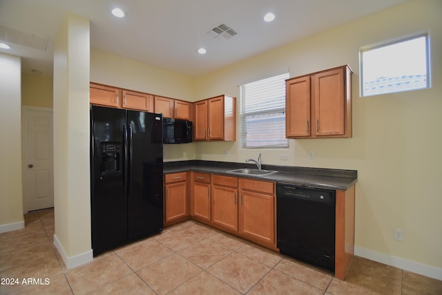
<path id="1" fill-rule="evenodd" d="M 361 256 L 369 260 L 374 260 L 385 265 L 390 265 L 392 267 L 405 269 L 409 272 L 421 274 L 422 276 L 436 278 L 436 280 L 442 280 L 442 268 L 424 265 L 422 263 L 416 263 L 416 261 L 407 260 L 396 256 L 390 256 L 357 246 L 354 246 L 354 255 Z"/>

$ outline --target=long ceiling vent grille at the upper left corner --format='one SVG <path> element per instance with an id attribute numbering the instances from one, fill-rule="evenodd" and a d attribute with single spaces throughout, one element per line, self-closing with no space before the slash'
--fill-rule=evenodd
<path id="1" fill-rule="evenodd" d="M 25 32 L 23 30 L 11 28 L 0 23 L 0 40 L 37 50 L 46 50 L 49 36 Z"/>

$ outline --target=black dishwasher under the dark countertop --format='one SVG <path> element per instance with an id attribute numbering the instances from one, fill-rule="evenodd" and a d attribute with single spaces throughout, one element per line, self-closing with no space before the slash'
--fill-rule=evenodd
<path id="1" fill-rule="evenodd" d="M 334 272 L 336 193 L 276 184 L 280 253 Z"/>

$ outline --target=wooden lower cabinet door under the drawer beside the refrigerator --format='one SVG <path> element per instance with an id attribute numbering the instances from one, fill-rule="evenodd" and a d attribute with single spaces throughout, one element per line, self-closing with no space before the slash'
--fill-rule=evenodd
<path id="1" fill-rule="evenodd" d="M 165 187 L 165 215 L 164 219 L 166 222 L 186 216 L 187 214 L 187 200 L 186 182 L 177 182 L 172 184 L 166 184 Z"/>

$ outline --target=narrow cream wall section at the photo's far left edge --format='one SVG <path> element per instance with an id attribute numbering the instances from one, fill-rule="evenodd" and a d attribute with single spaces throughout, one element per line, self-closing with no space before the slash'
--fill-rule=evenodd
<path id="1" fill-rule="evenodd" d="M 24 227 L 20 72 L 20 57 L 0 53 L 0 232 Z"/>

